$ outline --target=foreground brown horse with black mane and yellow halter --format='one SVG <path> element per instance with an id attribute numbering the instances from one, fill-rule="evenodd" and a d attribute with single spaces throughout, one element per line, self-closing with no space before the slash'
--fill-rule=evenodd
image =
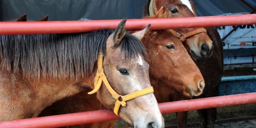
<path id="1" fill-rule="evenodd" d="M 90 94 L 97 92 L 97 99 L 126 122 L 163 128 L 139 40 L 149 27 L 131 35 L 125 22 L 115 31 L 1 35 L 0 121 L 37 117 L 57 100 L 89 87 Z"/>

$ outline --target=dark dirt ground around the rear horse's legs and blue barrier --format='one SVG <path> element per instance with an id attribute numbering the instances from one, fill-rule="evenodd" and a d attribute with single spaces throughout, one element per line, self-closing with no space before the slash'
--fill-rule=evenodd
<path id="1" fill-rule="evenodd" d="M 243 75 L 256 75 L 256 71 L 251 67 L 247 68 L 235 68 L 232 70 L 223 71 L 223 76 L 243 76 Z M 239 118 L 246 116 L 256 116 L 256 103 L 243 104 L 237 106 L 227 106 L 217 108 L 217 120 Z M 165 126 L 176 125 L 175 113 L 163 114 L 165 119 Z M 197 111 L 189 111 L 188 123 L 199 122 L 199 116 Z M 256 128 L 256 118 L 246 121 L 237 121 L 229 123 L 219 123 L 214 125 L 215 128 Z M 126 123 L 122 120 L 118 120 L 114 128 L 126 128 Z M 175 128 L 175 127 L 173 127 Z M 192 126 L 189 128 L 200 128 L 200 126 Z"/>

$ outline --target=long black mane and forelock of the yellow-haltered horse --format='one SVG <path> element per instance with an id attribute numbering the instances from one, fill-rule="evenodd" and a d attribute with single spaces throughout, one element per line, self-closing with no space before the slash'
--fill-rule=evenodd
<path id="1" fill-rule="evenodd" d="M 0 69 L 28 78 L 89 76 L 99 50 L 106 53 L 106 40 L 113 32 L 102 29 L 73 34 L 1 35 Z M 138 42 L 126 33 L 119 45 L 126 57 L 145 57 L 145 48 Z"/>

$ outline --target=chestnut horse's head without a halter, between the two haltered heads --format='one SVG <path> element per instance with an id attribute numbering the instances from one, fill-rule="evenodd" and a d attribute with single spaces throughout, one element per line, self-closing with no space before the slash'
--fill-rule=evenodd
<path id="1" fill-rule="evenodd" d="M 178 38 L 168 30 L 156 30 L 149 31 L 142 42 L 148 52 L 154 88 L 166 90 L 162 93 L 176 90 L 186 97 L 202 93 L 205 85 L 202 74 Z"/>

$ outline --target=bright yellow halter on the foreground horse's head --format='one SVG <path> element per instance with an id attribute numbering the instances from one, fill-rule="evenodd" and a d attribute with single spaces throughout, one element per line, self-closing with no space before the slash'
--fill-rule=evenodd
<path id="1" fill-rule="evenodd" d="M 114 107 L 114 113 L 116 115 L 118 115 L 118 111 L 119 111 L 120 106 L 126 106 L 126 101 L 127 100 L 131 100 L 131 99 L 134 99 L 136 97 L 154 92 L 153 87 L 151 86 L 149 88 L 145 88 L 143 90 L 133 92 L 133 93 L 130 93 L 130 94 L 124 95 L 124 96 L 119 95 L 118 93 L 116 93 L 116 91 L 114 91 L 114 89 L 110 86 L 109 82 L 107 81 L 107 77 L 104 74 L 104 71 L 103 71 L 103 55 L 102 55 L 102 51 L 100 51 L 99 55 L 98 55 L 98 70 L 97 70 L 97 73 L 96 73 L 96 76 L 95 76 L 94 89 L 91 92 L 88 92 L 88 94 L 96 93 L 99 90 L 100 86 L 102 85 L 102 81 L 106 85 L 107 90 L 109 90 L 112 97 L 114 99 L 116 99 L 116 104 L 115 104 L 115 107 Z M 119 100 L 119 97 L 121 97 L 122 101 Z"/>

